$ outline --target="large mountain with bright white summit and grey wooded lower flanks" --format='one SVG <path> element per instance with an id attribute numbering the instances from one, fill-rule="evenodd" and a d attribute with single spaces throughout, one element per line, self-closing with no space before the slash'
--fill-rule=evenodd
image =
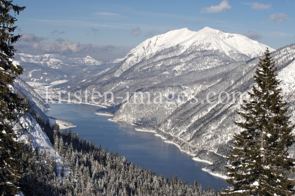
<path id="1" fill-rule="evenodd" d="M 121 93 L 127 85 L 129 90 L 189 86 L 230 72 L 261 56 L 266 47 L 274 51 L 239 34 L 209 27 L 197 32 L 184 28 L 147 39 L 113 68 L 77 76 L 58 87 L 70 85 L 73 91 L 90 88 Z"/>

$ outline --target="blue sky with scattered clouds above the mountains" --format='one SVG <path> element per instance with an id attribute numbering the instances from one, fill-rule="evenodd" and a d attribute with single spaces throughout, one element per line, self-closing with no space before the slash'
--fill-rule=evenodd
<path id="1" fill-rule="evenodd" d="M 295 43 L 292 1 L 40 1 L 16 16 L 20 53 L 87 55 L 101 61 L 123 58 L 158 34 L 206 26 L 245 35 L 271 48 Z"/>

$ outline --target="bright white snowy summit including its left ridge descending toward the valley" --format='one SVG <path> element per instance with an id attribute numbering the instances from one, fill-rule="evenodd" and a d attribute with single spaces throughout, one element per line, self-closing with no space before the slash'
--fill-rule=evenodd
<path id="1" fill-rule="evenodd" d="M 239 55 L 255 58 L 262 56 L 266 47 L 269 48 L 270 52 L 275 51 L 275 49 L 246 36 L 224 33 L 209 27 L 199 31 L 190 31 L 187 28 L 177 29 L 147 39 L 132 49 L 126 55 L 121 69 L 115 76 L 118 77 L 120 73 L 129 69 L 132 65 L 149 59 L 166 49 L 169 49 L 170 52 L 175 49 L 173 55 L 180 55 L 188 51 L 218 50 L 232 58 Z"/>

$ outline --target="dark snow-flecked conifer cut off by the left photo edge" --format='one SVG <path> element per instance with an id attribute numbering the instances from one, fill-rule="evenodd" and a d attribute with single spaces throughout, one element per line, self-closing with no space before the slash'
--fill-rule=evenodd
<path id="1" fill-rule="evenodd" d="M 17 135 L 13 127 L 24 109 L 21 98 L 14 94 L 12 83 L 22 74 L 22 67 L 12 62 L 16 50 L 12 46 L 20 35 L 12 34 L 17 28 L 17 21 L 12 12 L 19 14 L 25 7 L 13 5 L 12 1 L 0 2 L 0 194 L 12 195 L 17 193 L 17 182 L 21 175 L 20 146 L 15 141 Z"/>

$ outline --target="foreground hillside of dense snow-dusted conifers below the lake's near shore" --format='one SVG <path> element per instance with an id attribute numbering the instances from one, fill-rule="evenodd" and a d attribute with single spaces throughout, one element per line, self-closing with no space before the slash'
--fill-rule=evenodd
<path id="1" fill-rule="evenodd" d="M 30 115 L 30 114 L 28 114 Z M 36 141 L 27 134 L 29 156 L 24 156 L 30 165 L 24 169 L 25 176 L 20 182 L 24 195 L 191 195 L 215 196 L 219 192 L 194 182 L 182 182 L 177 176 L 166 178 L 151 169 L 137 167 L 118 152 L 109 153 L 101 146 L 83 139 L 71 129 L 60 133 L 58 125 L 52 127 L 42 122 L 42 129 L 53 141 L 55 151 L 61 156 L 62 166 L 48 152 L 39 149 Z M 35 129 L 41 129 L 35 124 Z M 41 129 L 41 130 L 42 130 Z M 52 140 L 52 138 L 54 138 Z M 42 138 L 39 138 L 42 139 Z M 46 138 L 45 138 L 46 139 Z M 36 139 L 35 139 L 36 140 Z M 35 145 L 34 145 L 34 144 Z M 55 154 L 56 154 L 55 153 Z"/>

